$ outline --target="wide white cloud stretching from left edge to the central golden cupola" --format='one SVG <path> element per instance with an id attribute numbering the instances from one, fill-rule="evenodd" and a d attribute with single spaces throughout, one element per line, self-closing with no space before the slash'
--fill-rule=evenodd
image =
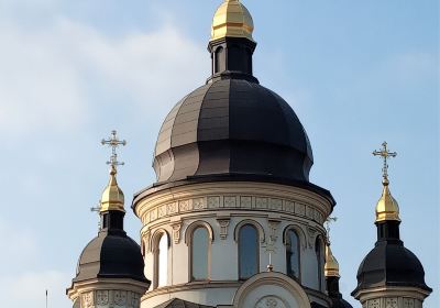
<path id="1" fill-rule="evenodd" d="M 118 105 L 164 111 L 162 100 L 177 100 L 209 68 L 173 25 L 111 37 L 65 18 L 36 29 L 11 22 L 0 42 L 0 132 L 9 135 L 72 131 Z"/>

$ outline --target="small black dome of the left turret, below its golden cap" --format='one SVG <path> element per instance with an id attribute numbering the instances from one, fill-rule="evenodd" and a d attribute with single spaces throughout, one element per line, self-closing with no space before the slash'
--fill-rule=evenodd
<path id="1" fill-rule="evenodd" d="M 79 256 L 73 282 L 94 278 L 132 278 L 147 283 L 139 244 L 124 231 L 100 231 Z"/>

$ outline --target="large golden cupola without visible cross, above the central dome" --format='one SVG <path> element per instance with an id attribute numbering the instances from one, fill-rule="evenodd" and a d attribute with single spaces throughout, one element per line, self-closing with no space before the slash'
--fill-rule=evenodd
<path id="1" fill-rule="evenodd" d="M 239 0 L 226 0 L 213 16 L 211 41 L 223 37 L 244 37 L 253 41 L 254 22 Z"/>

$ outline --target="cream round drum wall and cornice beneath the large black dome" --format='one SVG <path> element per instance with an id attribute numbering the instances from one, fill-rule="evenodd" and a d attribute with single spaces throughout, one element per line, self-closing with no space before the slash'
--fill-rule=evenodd
<path id="1" fill-rule="evenodd" d="M 145 197 L 141 195 L 135 200 L 135 211 L 143 222 L 141 246 L 145 276 L 153 280 L 150 290 L 141 298 L 141 307 L 155 307 L 172 298 L 180 298 L 213 307 L 235 307 L 231 305 L 238 300 L 244 305 L 238 306 L 241 308 L 261 307 L 264 300 L 268 300 L 266 304 L 278 301 L 276 307 L 294 308 L 305 307 L 300 305 L 305 305 L 301 296 L 306 294 L 308 305 L 310 301 L 329 305 L 324 292 L 323 258 L 318 262 L 315 245 L 323 245 L 322 223 L 331 211 L 331 205 L 316 193 L 263 183 L 191 184 Z M 263 285 L 258 279 L 258 284 L 251 287 L 254 289 L 252 293 L 243 293 L 241 288 L 256 276 L 245 282 L 239 278 L 239 232 L 246 224 L 257 230 L 257 273 L 261 274 L 256 276 L 264 275 L 266 279 Z M 209 234 L 209 270 L 204 280 L 191 279 L 191 237 L 197 228 L 206 228 Z M 285 234 L 289 229 L 295 230 L 299 238 L 298 279 L 286 275 Z M 169 239 L 168 271 L 166 286 L 158 286 L 161 258 L 157 249 L 164 234 Z M 274 272 L 267 273 L 270 253 L 266 248 L 271 243 L 275 248 L 272 254 Z M 320 249 L 323 252 L 323 246 Z M 323 257 L 323 253 L 321 255 Z M 279 279 L 283 283 L 277 284 Z M 283 288 L 280 285 L 295 287 Z"/>

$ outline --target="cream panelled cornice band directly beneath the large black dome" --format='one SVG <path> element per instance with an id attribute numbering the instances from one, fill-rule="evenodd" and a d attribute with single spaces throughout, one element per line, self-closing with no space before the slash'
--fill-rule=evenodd
<path id="1" fill-rule="evenodd" d="M 239 187 L 238 187 L 239 186 Z M 319 195 L 274 184 L 196 184 L 153 194 L 136 205 L 144 226 L 183 213 L 252 210 L 297 216 L 322 224 L 331 205 Z"/>

